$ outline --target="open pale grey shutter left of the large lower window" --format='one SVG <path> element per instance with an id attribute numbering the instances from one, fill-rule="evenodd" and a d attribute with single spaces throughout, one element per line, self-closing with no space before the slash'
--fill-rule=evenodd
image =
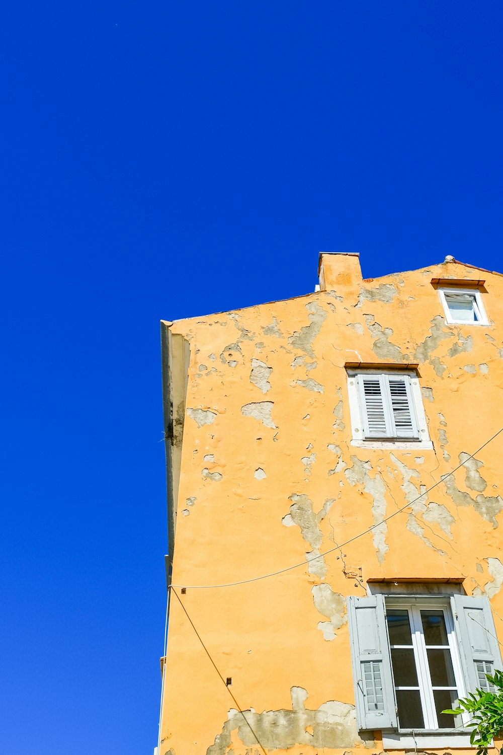
<path id="1" fill-rule="evenodd" d="M 348 621 L 358 727 L 396 729 L 384 597 L 349 597 Z"/>

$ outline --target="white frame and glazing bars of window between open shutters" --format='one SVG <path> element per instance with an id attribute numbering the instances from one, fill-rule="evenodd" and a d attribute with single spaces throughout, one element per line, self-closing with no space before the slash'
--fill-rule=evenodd
<path id="1" fill-rule="evenodd" d="M 406 609 L 409 612 L 409 622 L 410 622 L 410 630 L 412 634 L 412 643 L 413 643 L 413 651 L 414 651 L 414 659 L 416 661 L 416 670 L 418 675 L 418 685 L 415 687 L 395 687 L 394 689 L 417 689 L 419 686 L 419 695 L 421 697 L 421 704 L 422 704 L 422 712 L 425 720 L 425 726 L 423 729 L 415 729 L 414 734 L 425 734 L 425 733 L 433 733 L 435 734 L 441 734 L 441 733 L 448 733 L 452 732 L 453 730 L 458 729 L 459 733 L 462 733 L 462 729 L 459 729 L 459 727 L 455 727 L 455 729 L 439 729 L 438 727 L 438 720 L 437 720 L 437 712 L 435 710 L 435 704 L 434 704 L 434 696 L 433 696 L 433 688 L 431 684 L 431 675 L 428 665 L 428 655 L 426 651 L 426 643 L 425 643 L 425 636 L 423 633 L 423 627 L 422 627 L 422 620 L 421 620 L 421 611 L 422 610 L 431 610 L 431 609 L 441 609 L 443 612 L 443 618 L 446 624 L 446 631 L 447 631 L 447 639 L 448 639 L 448 646 L 449 646 L 449 652 L 451 655 L 452 660 L 452 669 L 454 671 L 454 679 L 455 679 L 455 687 L 452 689 L 456 689 L 458 692 L 458 698 L 465 697 L 466 695 L 466 687 L 465 687 L 465 679 L 462 672 L 462 664 L 461 664 L 461 658 L 459 655 L 459 647 L 458 642 L 455 636 L 455 629 L 454 629 L 454 622 L 452 618 L 452 612 L 449 604 L 449 599 L 445 598 L 413 598 L 413 599 L 399 599 L 399 598 L 386 598 L 385 599 L 385 606 L 386 610 L 388 609 Z M 391 646 L 389 643 L 389 636 L 388 636 L 388 645 L 391 648 L 400 648 L 400 647 L 407 647 L 409 646 Z M 442 649 L 445 648 L 445 646 L 441 646 Z M 440 648 L 440 646 L 439 646 Z M 446 687 L 439 687 L 439 689 L 447 689 Z M 400 712 L 398 712 L 398 715 L 400 716 Z M 463 726 L 467 721 L 469 720 L 470 716 L 468 713 L 463 713 L 462 716 L 459 716 L 462 719 L 462 722 L 460 722 L 459 726 Z M 399 734 L 405 734 L 406 732 L 412 732 L 412 729 L 404 729 L 403 727 L 399 726 L 398 733 Z"/>

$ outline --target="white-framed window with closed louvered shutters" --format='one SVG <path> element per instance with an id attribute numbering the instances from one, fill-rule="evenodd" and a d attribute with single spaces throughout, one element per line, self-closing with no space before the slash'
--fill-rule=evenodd
<path id="1" fill-rule="evenodd" d="M 393 442 L 403 447 L 425 442 L 431 448 L 419 380 L 413 372 L 348 371 L 348 394 L 352 445 L 383 447 Z"/>

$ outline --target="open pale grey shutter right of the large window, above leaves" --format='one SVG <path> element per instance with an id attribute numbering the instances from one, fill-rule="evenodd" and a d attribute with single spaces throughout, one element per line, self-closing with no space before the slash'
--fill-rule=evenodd
<path id="1" fill-rule="evenodd" d="M 489 600 L 454 595 L 451 602 L 467 692 L 492 692 L 494 687 L 486 680 L 486 673 L 501 669 L 502 664 Z"/>

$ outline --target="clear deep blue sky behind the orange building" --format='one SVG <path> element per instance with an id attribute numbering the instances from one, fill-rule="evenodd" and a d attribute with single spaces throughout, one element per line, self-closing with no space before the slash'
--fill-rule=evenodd
<path id="1" fill-rule="evenodd" d="M 321 249 L 367 277 L 503 270 L 502 20 L 473 0 L 4 6 L 2 755 L 156 744 L 161 318 L 312 291 Z"/>

